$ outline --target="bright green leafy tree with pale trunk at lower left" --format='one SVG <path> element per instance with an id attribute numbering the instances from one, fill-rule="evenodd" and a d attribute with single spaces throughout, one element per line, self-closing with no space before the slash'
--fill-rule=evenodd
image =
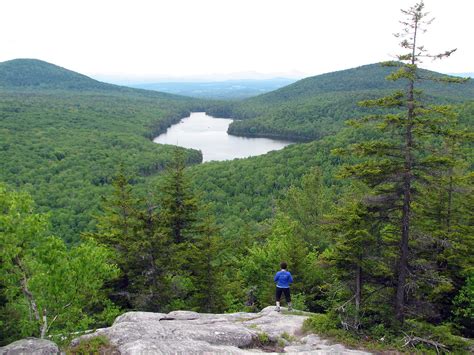
<path id="1" fill-rule="evenodd" d="M 84 330 L 115 309 L 103 286 L 118 270 L 105 248 L 87 241 L 68 249 L 49 236 L 47 217 L 34 213 L 25 193 L 0 186 L 0 206 L 2 342 Z"/>

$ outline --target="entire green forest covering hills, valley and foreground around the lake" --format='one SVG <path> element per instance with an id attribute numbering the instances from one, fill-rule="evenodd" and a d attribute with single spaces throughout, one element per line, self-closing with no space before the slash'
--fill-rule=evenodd
<path id="1" fill-rule="evenodd" d="M 404 51 L 418 48 L 411 34 Z M 0 63 L 0 342 L 126 310 L 258 310 L 285 260 L 308 331 L 468 352 L 474 86 L 420 69 L 419 55 L 241 102 Z M 308 142 L 205 164 L 151 142 L 192 110 L 241 118 L 231 133 Z"/>

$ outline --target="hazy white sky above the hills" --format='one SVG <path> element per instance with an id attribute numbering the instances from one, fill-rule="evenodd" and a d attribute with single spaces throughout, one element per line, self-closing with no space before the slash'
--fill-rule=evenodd
<path id="1" fill-rule="evenodd" d="M 309 76 L 391 59 L 412 0 L 0 0 L 0 61 L 38 58 L 93 77 Z M 421 41 L 474 72 L 474 0 L 425 0 Z"/>

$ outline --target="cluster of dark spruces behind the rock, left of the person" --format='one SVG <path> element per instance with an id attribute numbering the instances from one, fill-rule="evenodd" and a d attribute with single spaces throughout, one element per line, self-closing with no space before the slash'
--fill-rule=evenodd
<path id="1" fill-rule="evenodd" d="M 146 200 L 119 172 L 97 231 L 85 234 L 114 250 L 122 276 L 111 297 L 124 307 L 161 312 L 224 308 L 219 228 L 200 205 L 183 159 L 176 149 Z"/>

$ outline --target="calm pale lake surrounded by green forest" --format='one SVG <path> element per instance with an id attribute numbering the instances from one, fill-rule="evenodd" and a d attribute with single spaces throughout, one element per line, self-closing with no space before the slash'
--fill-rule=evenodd
<path id="1" fill-rule="evenodd" d="M 227 134 L 232 119 L 214 118 L 205 112 L 193 112 L 168 128 L 153 142 L 172 144 L 202 152 L 203 162 L 247 158 L 279 150 L 292 142 L 268 138 L 245 138 Z"/>

